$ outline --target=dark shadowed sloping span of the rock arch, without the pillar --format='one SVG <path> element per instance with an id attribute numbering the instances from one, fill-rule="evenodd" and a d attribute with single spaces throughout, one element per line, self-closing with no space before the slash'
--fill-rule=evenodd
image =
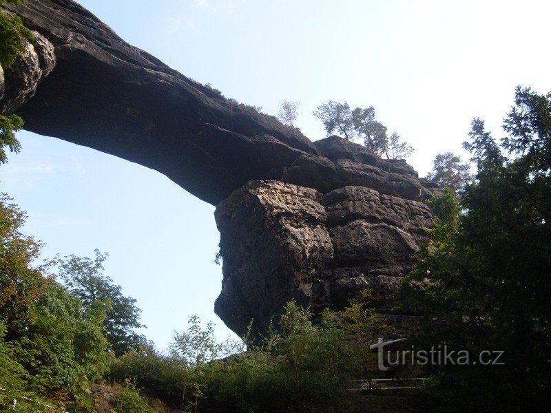
<path id="1" fill-rule="evenodd" d="M 156 169 L 215 205 L 249 180 L 271 177 L 273 164 L 280 179 L 282 168 L 302 153 L 318 153 L 298 129 L 171 70 L 74 1 L 27 0 L 2 8 L 48 39 L 56 56 L 34 97 L 6 108 L 25 119 L 25 129 Z M 235 136 L 253 149 L 233 145 Z M 272 165 L 258 162 L 269 158 Z"/>

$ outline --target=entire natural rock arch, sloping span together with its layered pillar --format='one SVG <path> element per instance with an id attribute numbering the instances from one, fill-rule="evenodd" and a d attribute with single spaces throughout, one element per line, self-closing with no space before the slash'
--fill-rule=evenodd
<path id="1" fill-rule="evenodd" d="M 3 3 L 34 33 L 0 67 L 0 112 L 25 129 L 156 169 L 217 205 L 216 313 L 264 332 L 295 299 L 342 307 L 363 288 L 388 299 L 433 216 L 438 191 L 402 160 L 338 136 L 311 142 L 120 39 L 72 0 Z"/>

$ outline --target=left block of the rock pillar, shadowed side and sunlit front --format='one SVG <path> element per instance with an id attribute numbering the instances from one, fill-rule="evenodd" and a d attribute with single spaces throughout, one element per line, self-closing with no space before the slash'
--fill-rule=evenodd
<path id="1" fill-rule="evenodd" d="M 215 213 L 223 257 L 222 292 L 215 311 L 243 334 L 254 320 L 262 332 L 284 304 L 319 305 L 316 273 L 333 260 L 327 215 L 313 189 L 251 181 Z"/>

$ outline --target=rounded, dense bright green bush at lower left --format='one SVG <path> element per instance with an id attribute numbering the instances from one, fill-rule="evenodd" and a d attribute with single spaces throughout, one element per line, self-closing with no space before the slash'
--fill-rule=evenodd
<path id="1" fill-rule="evenodd" d="M 41 393 L 74 390 L 107 369 L 105 314 L 84 314 L 82 304 L 59 284 L 48 284 L 30 311 L 31 320 L 19 340 L 18 359 L 32 374 Z"/>

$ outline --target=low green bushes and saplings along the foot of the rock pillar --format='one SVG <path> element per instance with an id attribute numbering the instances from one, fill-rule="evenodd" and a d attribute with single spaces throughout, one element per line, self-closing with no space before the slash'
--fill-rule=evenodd
<path id="1" fill-rule="evenodd" d="M 367 357 L 359 349 L 367 351 L 370 339 L 388 330 L 368 300 L 365 292 L 342 313 L 325 310 L 316 324 L 309 310 L 290 302 L 278 329 L 248 343 L 246 352 L 232 341 L 218 343 L 212 324 L 202 326 L 192 316 L 168 355 L 143 346 L 113 360 L 110 378 L 135 379 L 148 394 L 185 411 L 346 409 L 353 400 L 347 381 L 364 374 Z"/>

